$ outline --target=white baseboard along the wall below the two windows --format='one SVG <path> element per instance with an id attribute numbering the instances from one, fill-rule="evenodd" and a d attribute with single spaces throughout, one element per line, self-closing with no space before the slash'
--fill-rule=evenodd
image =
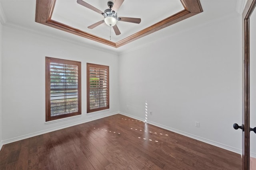
<path id="1" fill-rule="evenodd" d="M 86 119 L 86 120 L 83 120 L 83 121 L 77 121 L 77 122 L 70 123 L 70 124 L 67 124 L 67 125 L 62 125 L 62 126 L 59 126 L 59 127 L 54 127 L 54 128 L 46 129 L 46 130 L 43 130 L 43 131 L 38 131 L 38 132 L 30 133 L 28 135 L 22 135 L 22 136 L 15 137 L 15 138 L 12 138 L 12 139 L 4 140 L 4 141 L 0 142 L 0 144 L 1 144 L 0 147 L 2 148 L 2 145 L 8 144 L 8 143 L 12 143 L 12 142 L 20 141 L 20 140 L 27 139 L 27 138 L 30 138 L 30 137 L 34 137 L 34 136 L 37 136 L 37 135 L 42 135 L 44 133 L 49 133 L 49 132 L 52 132 L 52 131 L 64 129 L 66 127 L 71 127 L 71 126 L 79 125 L 79 124 L 86 123 L 86 122 L 89 122 L 89 121 L 94 121 L 94 120 L 101 119 L 101 118 L 104 118 L 104 117 L 108 117 L 108 116 L 111 116 L 111 115 L 116 115 L 118 113 L 119 112 L 108 113 L 106 115 L 96 116 L 96 117 L 93 117 L 93 118 L 90 118 L 90 119 Z"/>

